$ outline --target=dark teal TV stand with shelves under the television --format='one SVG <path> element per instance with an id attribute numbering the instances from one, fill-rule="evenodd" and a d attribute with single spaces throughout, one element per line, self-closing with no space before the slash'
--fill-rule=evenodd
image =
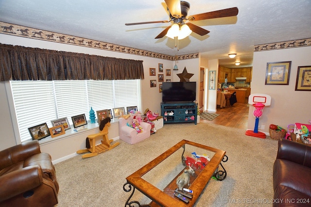
<path id="1" fill-rule="evenodd" d="M 163 123 L 194 122 L 197 119 L 197 105 L 193 102 L 162 102 Z"/>

